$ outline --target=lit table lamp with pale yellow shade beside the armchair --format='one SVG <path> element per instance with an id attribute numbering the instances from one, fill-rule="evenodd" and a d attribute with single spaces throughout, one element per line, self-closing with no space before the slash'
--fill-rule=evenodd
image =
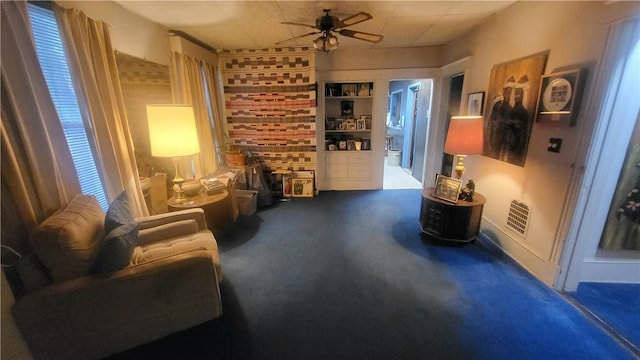
<path id="1" fill-rule="evenodd" d="M 200 152 L 198 131 L 193 108 L 188 105 L 147 105 L 151 155 L 173 158 L 176 174 L 173 183 L 178 185 L 176 203 L 187 201 L 180 173 L 180 160 Z"/>

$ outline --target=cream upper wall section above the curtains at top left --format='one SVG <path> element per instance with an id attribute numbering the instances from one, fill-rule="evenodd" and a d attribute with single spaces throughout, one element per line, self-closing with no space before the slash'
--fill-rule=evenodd
<path id="1" fill-rule="evenodd" d="M 125 10 L 111 1 L 56 1 L 65 8 L 76 8 L 94 20 L 111 25 L 113 48 L 125 54 L 158 64 L 169 64 L 168 30 Z"/>

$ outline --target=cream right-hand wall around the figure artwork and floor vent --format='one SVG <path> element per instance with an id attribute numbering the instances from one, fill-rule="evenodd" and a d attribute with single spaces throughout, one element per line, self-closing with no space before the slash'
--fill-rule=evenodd
<path id="1" fill-rule="evenodd" d="M 549 285 L 566 236 L 564 216 L 571 213 L 575 200 L 570 186 L 580 180 L 584 166 L 582 141 L 588 142 L 589 136 L 582 135 L 593 128 L 595 115 L 585 109 L 608 24 L 637 13 L 635 2 L 517 2 L 446 49 L 446 63 L 472 56 L 465 77 L 467 92 L 486 91 L 493 65 L 543 51 L 549 51 L 545 74 L 573 66 L 589 70 L 577 125 L 533 124 L 524 167 L 479 155 L 465 161 L 477 191 L 487 197 L 483 233 Z M 550 137 L 563 139 L 559 154 L 546 150 Z M 525 238 L 505 229 L 513 199 L 531 207 Z"/>

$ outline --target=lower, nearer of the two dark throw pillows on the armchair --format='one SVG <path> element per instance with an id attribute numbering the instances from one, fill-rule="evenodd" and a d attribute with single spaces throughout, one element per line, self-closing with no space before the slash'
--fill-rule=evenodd
<path id="1" fill-rule="evenodd" d="M 92 266 L 92 272 L 103 273 L 124 269 L 138 244 L 138 224 L 125 224 L 107 234 Z"/>

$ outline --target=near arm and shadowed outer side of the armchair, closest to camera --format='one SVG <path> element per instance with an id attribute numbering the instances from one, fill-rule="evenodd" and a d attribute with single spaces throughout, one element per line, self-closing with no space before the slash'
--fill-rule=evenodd
<path id="1" fill-rule="evenodd" d="M 222 307 L 211 254 L 198 250 L 54 283 L 23 296 L 12 310 L 36 358 L 76 359 L 197 325 Z"/>

